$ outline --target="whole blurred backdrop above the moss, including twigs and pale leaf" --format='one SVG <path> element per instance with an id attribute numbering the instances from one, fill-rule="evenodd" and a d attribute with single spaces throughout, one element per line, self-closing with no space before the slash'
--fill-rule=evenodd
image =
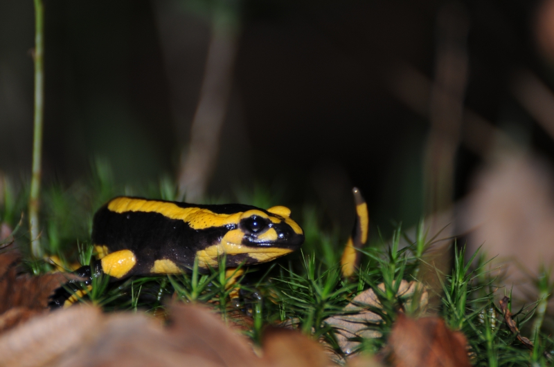
<path id="1" fill-rule="evenodd" d="M 440 217 L 554 259 L 554 0 L 45 6 L 44 182 L 100 159 L 189 201 L 267 187 L 346 232 L 355 185 L 385 233 Z M 0 1 L 0 169 L 24 179 L 33 44 L 33 2 Z"/>

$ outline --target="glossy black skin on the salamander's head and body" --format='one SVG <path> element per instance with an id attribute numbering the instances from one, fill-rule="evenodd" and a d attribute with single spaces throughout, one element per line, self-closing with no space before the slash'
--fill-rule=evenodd
<path id="1" fill-rule="evenodd" d="M 181 207 L 192 206 L 185 203 L 175 204 Z M 195 205 L 195 207 L 206 208 L 218 214 L 233 214 L 257 209 L 268 215 L 274 215 L 250 205 Z M 282 235 L 282 238 L 278 238 L 278 241 L 272 243 L 258 242 L 256 229 L 260 225 L 273 227 L 278 234 Z M 246 234 L 242 244 L 251 247 L 278 247 L 294 251 L 298 250 L 304 242 L 303 234 L 294 233 L 284 221 L 276 224 L 261 217 L 258 217 L 258 220 L 244 218 L 239 227 Z M 171 260 L 184 271 L 190 270 L 194 265 L 197 251 L 218 243 L 227 232 L 236 228 L 237 225 L 228 225 L 192 229 L 183 220 L 170 219 L 162 214 L 141 211 L 115 213 L 107 209 L 107 205 L 105 205 L 94 216 L 92 241 L 96 244 L 106 245 L 109 252 L 131 250 L 136 257 L 136 265 L 126 276 L 145 275 L 150 274 L 154 261 L 163 258 Z M 247 254 L 226 255 L 227 267 L 236 267 L 241 263 L 253 265 L 258 262 L 249 258 Z"/>

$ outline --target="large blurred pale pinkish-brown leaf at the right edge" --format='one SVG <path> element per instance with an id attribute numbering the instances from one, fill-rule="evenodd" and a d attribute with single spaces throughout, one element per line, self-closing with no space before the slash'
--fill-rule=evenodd
<path id="1" fill-rule="evenodd" d="M 473 229 L 467 253 L 483 245 L 494 267 L 506 265 L 502 285 L 516 298 L 529 290 L 529 275 L 554 262 L 554 176 L 545 162 L 526 153 L 501 153 L 474 182 L 459 210 L 457 227 Z M 499 274 L 493 274 L 496 276 Z M 536 294 L 530 295 L 536 299 Z"/>

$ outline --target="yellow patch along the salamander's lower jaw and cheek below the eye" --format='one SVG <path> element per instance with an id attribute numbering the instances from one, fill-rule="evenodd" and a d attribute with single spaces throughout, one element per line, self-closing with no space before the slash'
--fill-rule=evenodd
<path id="1" fill-rule="evenodd" d="M 204 250 L 197 251 L 196 256 L 198 258 L 198 265 L 204 268 L 217 267 L 217 258 L 223 254 L 248 254 L 251 258 L 256 258 L 256 260 L 258 260 L 256 256 L 259 256 L 260 260 L 258 260 L 258 263 L 265 263 L 266 261 L 271 261 L 274 258 L 292 252 L 292 250 L 280 247 L 245 246 L 241 244 L 242 237 L 244 237 L 244 233 L 242 233 L 240 229 L 233 229 L 227 232 L 217 245 L 212 245 Z"/>

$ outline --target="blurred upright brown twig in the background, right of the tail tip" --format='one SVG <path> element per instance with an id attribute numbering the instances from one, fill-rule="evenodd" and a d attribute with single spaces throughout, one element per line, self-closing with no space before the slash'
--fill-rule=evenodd
<path id="1" fill-rule="evenodd" d="M 467 84 L 465 9 L 448 3 L 438 14 L 435 81 L 431 87 L 430 122 L 425 156 L 427 213 L 448 209 L 454 198 L 454 160 L 460 140 L 463 95 Z"/>

